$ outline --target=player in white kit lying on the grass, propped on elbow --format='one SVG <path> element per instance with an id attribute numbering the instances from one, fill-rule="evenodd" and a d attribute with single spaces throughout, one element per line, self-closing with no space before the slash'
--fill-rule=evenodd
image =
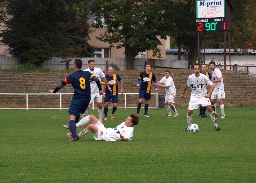
<path id="1" fill-rule="evenodd" d="M 115 128 L 106 128 L 99 119 L 94 115 L 87 115 L 76 123 L 76 128 L 91 122 L 84 130 L 82 130 L 77 137 L 73 138 L 70 133 L 68 133 L 69 141 L 77 141 L 78 139 L 84 137 L 91 131 L 93 132 L 93 137 L 95 140 L 105 140 L 105 141 L 130 141 L 133 136 L 133 125 L 139 123 L 139 118 L 135 114 L 128 116 L 125 121 Z M 68 125 L 63 125 L 64 128 L 69 129 Z"/>

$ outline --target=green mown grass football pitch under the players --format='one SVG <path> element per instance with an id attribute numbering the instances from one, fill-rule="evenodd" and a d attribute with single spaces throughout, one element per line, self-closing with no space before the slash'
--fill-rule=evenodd
<path id="1" fill-rule="evenodd" d="M 135 112 L 117 109 L 105 126 Z M 149 109 L 146 118 L 142 108 L 130 142 L 95 141 L 92 133 L 68 142 L 67 110 L 0 110 L 0 182 L 255 181 L 256 107 L 226 107 L 221 131 L 195 110 L 196 134 L 183 131 L 187 110 L 178 112 L 168 118 L 166 109 Z"/>

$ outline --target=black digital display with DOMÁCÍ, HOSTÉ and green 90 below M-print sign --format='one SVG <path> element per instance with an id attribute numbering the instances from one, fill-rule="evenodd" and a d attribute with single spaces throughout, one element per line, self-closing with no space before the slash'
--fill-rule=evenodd
<path id="1" fill-rule="evenodd" d="M 196 31 L 224 31 L 226 29 L 225 17 L 196 19 Z"/>

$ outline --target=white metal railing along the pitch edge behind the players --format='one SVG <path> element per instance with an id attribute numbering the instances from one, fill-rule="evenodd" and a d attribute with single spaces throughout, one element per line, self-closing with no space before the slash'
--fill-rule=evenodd
<path id="1" fill-rule="evenodd" d="M 62 102 L 61 102 L 61 98 L 62 98 L 62 95 L 73 95 L 74 93 L 0 93 L 0 96 L 1 95 L 26 95 L 26 108 L 1 108 L 0 109 L 26 109 L 26 110 L 29 110 L 29 109 L 68 109 L 66 107 L 62 107 Z M 138 94 L 139 93 L 124 93 L 123 96 L 121 93 L 118 93 L 118 98 L 120 100 L 120 97 L 124 97 L 124 106 L 118 106 L 118 108 L 124 108 L 124 109 L 127 109 L 127 108 L 137 108 L 137 107 L 127 107 L 127 95 L 134 95 L 134 94 L 137 94 L 136 97 L 138 97 Z M 155 104 L 156 106 L 154 107 L 149 107 L 149 108 L 158 108 L 158 93 L 151 93 L 153 95 L 156 95 L 156 101 L 155 101 Z M 60 96 L 60 107 L 58 108 L 29 108 L 29 96 L 31 95 L 59 95 Z M 103 100 L 104 101 L 104 100 Z M 111 103 L 112 104 L 112 103 Z M 92 101 L 92 110 L 96 109 L 97 106 L 95 107 L 94 106 L 94 101 Z"/>

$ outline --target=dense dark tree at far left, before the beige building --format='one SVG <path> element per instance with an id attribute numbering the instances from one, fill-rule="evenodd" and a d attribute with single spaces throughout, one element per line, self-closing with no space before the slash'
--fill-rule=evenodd
<path id="1" fill-rule="evenodd" d="M 22 62 L 40 65 L 54 54 L 61 58 L 90 56 L 88 0 L 2 1 L 1 42 Z"/>

